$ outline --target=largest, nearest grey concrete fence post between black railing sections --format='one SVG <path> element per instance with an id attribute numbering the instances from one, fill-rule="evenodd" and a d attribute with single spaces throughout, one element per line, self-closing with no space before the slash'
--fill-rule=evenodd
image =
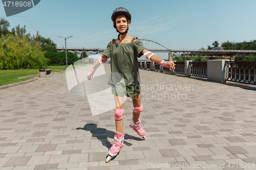
<path id="1" fill-rule="evenodd" d="M 226 78 L 225 62 L 229 60 L 208 60 L 207 80 L 224 83 Z"/>

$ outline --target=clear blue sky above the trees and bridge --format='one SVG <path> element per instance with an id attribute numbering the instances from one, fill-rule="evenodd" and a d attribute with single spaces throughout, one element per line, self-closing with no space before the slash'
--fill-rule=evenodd
<path id="1" fill-rule="evenodd" d="M 118 33 L 112 12 L 127 8 L 132 15 L 129 35 L 155 40 L 170 49 L 207 48 L 212 42 L 242 42 L 256 39 L 256 1 L 87 1 L 41 0 L 22 13 L 0 16 L 11 28 L 26 25 L 29 30 L 51 38 L 58 47 L 69 37 L 68 47 L 105 48 Z M 149 43 L 145 46 L 150 48 Z M 152 48 L 156 45 L 152 43 Z M 167 56 L 167 54 L 166 54 Z"/>

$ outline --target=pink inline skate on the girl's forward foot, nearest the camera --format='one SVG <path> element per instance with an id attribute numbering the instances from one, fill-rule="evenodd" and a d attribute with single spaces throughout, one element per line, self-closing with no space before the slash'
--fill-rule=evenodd
<path id="1" fill-rule="evenodd" d="M 109 150 L 109 155 L 106 158 L 106 163 L 108 163 L 112 157 L 116 156 L 120 152 L 120 150 L 123 148 L 123 139 L 124 139 L 123 134 L 116 132 L 114 136 L 115 141 Z"/>

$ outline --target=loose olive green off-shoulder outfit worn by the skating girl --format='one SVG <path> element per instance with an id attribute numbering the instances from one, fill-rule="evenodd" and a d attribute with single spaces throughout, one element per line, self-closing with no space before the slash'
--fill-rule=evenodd
<path id="1" fill-rule="evenodd" d="M 117 96 L 134 96 L 140 93 L 140 74 L 138 68 L 138 58 L 142 56 L 140 52 L 145 49 L 141 41 L 130 43 L 110 42 L 103 52 L 105 56 L 111 58 L 111 76 L 109 84 L 112 85 L 112 93 Z M 120 83 L 123 78 L 124 83 Z M 124 91 L 124 89 L 126 89 Z"/>

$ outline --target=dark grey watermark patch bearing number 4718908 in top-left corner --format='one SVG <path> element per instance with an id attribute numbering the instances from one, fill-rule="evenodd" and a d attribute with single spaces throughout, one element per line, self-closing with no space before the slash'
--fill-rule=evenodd
<path id="1" fill-rule="evenodd" d="M 12 16 L 36 6 L 40 0 L 2 0 L 6 16 Z"/>

